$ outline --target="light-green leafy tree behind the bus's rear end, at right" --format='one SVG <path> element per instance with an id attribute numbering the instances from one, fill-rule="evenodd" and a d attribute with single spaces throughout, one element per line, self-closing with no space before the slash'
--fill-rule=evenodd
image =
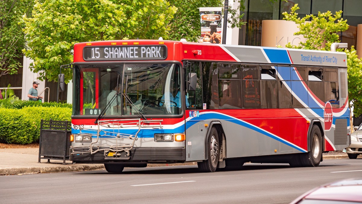
<path id="1" fill-rule="evenodd" d="M 299 9 L 298 4 L 291 8 L 291 12 L 284 12 L 284 20 L 293 21 L 299 28 L 299 32 L 294 35 L 302 34 L 306 42 L 300 42 L 299 45 L 291 45 L 289 42 L 286 47 L 308 50 L 331 50 L 333 42 L 340 42 L 337 33 L 348 29 L 347 20 L 343 20 L 342 11 L 335 14 L 327 11 L 318 12 L 318 15 L 308 14 L 303 18 L 298 17 L 296 11 Z M 362 114 L 362 61 L 358 58 L 356 50 L 352 46 L 348 49 L 337 49 L 344 51 L 347 55 L 347 72 L 348 72 L 348 94 L 349 100 L 352 101 L 354 114 Z"/>

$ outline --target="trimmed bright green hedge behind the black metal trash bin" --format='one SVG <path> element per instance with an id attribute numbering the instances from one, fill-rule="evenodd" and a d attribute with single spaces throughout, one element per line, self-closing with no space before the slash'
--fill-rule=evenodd
<path id="1" fill-rule="evenodd" d="M 71 108 L 63 107 L 0 108 L 0 141 L 19 144 L 38 142 L 41 119 L 71 121 L 71 114 Z"/>

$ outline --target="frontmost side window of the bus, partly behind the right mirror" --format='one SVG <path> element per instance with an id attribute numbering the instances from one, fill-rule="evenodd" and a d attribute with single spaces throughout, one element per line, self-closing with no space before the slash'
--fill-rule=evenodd
<path id="1" fill-rule="evenodd" d="M 186 64 L 187 63 L 187 64 Z M 202 78 L 201 78 L 201 71 L 200 71 L 200 62 L 185 62 L 186 72 L 185 72 L 185 79 L 190 72 L 196 73 L 197 80 L 196 80 L 196 90 L 189 91 L 186 90 L 186 100 L 189 101 L 189 109 L 202 109 Z"/>

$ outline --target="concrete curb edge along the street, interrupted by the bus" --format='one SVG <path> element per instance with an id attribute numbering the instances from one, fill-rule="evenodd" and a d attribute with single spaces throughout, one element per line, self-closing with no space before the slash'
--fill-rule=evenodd
<path id="1" fill-rule="evenodd" d="M 323 155 L 323 159 L 344 159 L 348 158 L 347 154 Z M 172 164 L 147 164 L 147 167 L 156 166 L 183 166 L 197 165 L 197 162 L 172 163 Z M 103 164 L 98 165 L 77 165 L 77 166 L 57 166 L 57 167 L 23 167 L 23 168 L 0 168 L 0 175 L 21 175 L 21 174 L 39 174 L 39 173 L 55 173 L 70 171 L 94 171 L 104 170 Z"/>

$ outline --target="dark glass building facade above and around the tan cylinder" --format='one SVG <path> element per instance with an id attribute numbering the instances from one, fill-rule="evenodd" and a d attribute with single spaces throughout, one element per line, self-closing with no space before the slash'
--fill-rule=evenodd
<path id="1" fill-rule="evenodd" d="M 261 30 L 263 20 L 282 20 L 283 12 L 290 12 L 290 8 L 298 4 L 299 17 L 318 12 L 343 11 L 343 19 L 347 19 L 349 29 L 340 33 L 341 42 L 348 46 L 357 47 L 358 24 L 362 24 L 361 0 L 245 0 L 243 20 L 247 22 L 239 30 L 239 45 L 261 45 Z M 362 30 L 362 29 L 361 29 Z M 362 36 L 362 31 L 359 33 Z M 360 42 L 362 44 L 362 42 Z M 362 46 L 362 45 L 359 45 Z"/>

